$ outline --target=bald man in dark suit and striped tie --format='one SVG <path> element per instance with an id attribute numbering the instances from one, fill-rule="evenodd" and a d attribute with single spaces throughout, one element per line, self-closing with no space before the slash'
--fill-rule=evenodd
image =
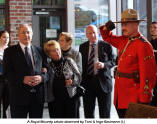
<path id="1" fill-rule="evenodd" d="M 96 98 L 98 99 L 100 118 L 110 118 L 112 91 L 110 69 L 114 65 L 114 57 L 111 46 L 103 41 L 98 41 L 98 35 L 96 26 L 89 25 L 86 28 L 86 37 L 89 41 L 81 44 L 79 48 L 83 67 L 81 85 L 86 88 L 83 97 L 86 118 L 94 118 Z"/>

